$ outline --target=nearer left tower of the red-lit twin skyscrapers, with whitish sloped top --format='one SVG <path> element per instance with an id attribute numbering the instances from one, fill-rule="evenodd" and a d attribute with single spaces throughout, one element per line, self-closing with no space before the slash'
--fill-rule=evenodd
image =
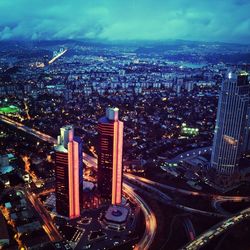
<path id="1" fill-rule="evenodd" d="M 60 129 L 55 146 L 56 211 L 62 216 L 76 218 L 82 207 L 83 166 L 82 143 L 74 137 L 72 126 Z"/>

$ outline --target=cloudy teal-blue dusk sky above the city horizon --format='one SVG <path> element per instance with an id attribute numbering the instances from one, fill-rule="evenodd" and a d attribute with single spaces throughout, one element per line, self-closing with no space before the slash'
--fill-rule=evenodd
<path id="1" fill-rule="evenodd" d="M 249 0 L 0 0 L 0 40 L 250 43 Z"/>

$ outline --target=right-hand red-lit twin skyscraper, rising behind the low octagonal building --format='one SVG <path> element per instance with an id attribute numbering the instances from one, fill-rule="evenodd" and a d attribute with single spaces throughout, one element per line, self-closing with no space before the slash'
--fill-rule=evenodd
<path id="1" fill-rule="evenodd" d="M 102 197 L 112 199 L 113 205 L 122 199 L 123 122 L 118 108 L 108 108 L 98 122 L 98 189 Z"/>

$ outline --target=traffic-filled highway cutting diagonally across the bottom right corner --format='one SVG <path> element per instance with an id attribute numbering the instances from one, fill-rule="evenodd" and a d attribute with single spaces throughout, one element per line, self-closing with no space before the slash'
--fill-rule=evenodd
<path id="1" fill-rule="evenodd" d="M 184 246 L 183 250 L 197 250 L 208 244 L 212 239 L 218 237 L 224 233 L 229 228 L 233 227 L 235 224 L 245 220 L 250 219 L 250 208 L 237 213 L 236 215 L 219 222 L 218 224 L 211 227 L 208 231 L 198 236 L 195 240 L 189 242 Z"/>

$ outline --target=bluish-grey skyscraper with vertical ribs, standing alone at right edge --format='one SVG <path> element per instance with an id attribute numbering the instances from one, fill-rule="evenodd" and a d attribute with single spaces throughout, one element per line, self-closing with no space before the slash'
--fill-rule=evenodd
<path id="1" fill-rule="evenodd" d="M 231 175 L 249 150 L 250 84 L 248 74 L 228 74 L 222 83 L 215 126 L 211 166 Z"/>

